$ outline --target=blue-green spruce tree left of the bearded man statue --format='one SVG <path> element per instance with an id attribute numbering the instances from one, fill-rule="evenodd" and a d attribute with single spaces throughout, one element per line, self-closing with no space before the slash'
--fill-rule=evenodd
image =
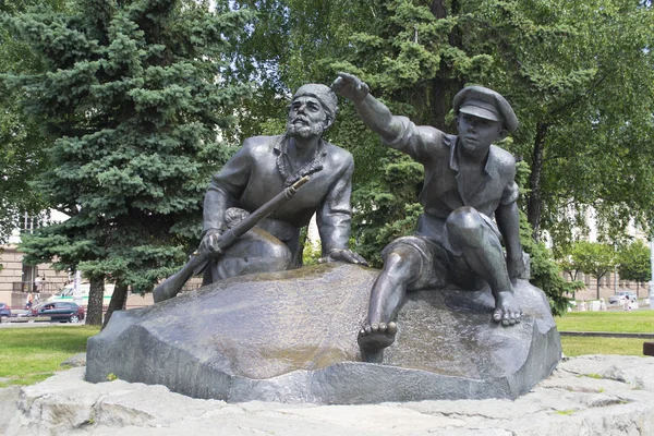
<path id="1" fill-rule="evenodd" d="M 221 75 L 252 14 L 217 3 L 78 0 L 66 13 L 3 16 L 47 66 L 3 81 L 53 138 L 38 186 L 71 217 L 21 249 L 83 271 L 89 324 L 101 323 L 105 280 L 120 308 L 128 287 L 150 290 L 197 242 L 206 183 L 231 153 L 233 108 L 249 90 Z"/>

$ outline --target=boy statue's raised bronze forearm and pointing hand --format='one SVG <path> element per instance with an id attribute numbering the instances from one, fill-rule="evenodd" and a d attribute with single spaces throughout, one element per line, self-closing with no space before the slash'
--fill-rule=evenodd
<path id="1" fill-rule="evenodd" d="M 365 125 L 387 143 L 398 137 L 402 129 L 400 119 L 370 94 L 368 86 L 361 78 L 348 73 L 338 73 L 338 75 L 331 84 L 331 89 L 352 100 Z"/>

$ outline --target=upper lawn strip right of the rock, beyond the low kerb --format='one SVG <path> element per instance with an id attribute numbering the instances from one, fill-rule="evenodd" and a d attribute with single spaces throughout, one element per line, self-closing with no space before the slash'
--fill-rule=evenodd
<path id="1" fill-rule="evenodd" d="M 556 318 L 559 331 L 654 334 L 654 311 L 569 312 Z"/>

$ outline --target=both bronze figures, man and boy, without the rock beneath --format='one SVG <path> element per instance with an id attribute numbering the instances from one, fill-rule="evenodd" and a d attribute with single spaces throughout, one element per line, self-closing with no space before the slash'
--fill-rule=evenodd
<path id="1" fill-rule="evenodd" d="M 302 86 L 289 107 L 286 134 L 246 140 L 214 175 L 204 202 L 199 257 L 208 262 L 199 267 L 203 282 L 301 266 L 300 230 L 314 214 L 325 262 L 367 265 L 348 250 L 353 158 L 322 138 L 337 114 L 335 93 L 354 104 L 386 146 L 408 154 L 425 170 L 415 233 L 384 249 L 384 269 L 359 332 L 362 359 L 378 362 L 393 342 L 395 316 L 407 291 L 447 284 L 479 290 L 488 284 L 495 298 L 493 319 L 505 326 L 520 323 L 513 296 L 523 268 L 516 161 L 493 144 L 513 132 L 518 120 L 505 98 L 479 86 L 455 97 L 458 135 L 393 116 L 354 75 L 339 73 L 331 88 Z M 310 181 L 292 198 L 221 249 L 220 238 L 230 227 L 303 177 Z M 177 293 L 166 292 L 159 301 Z"/>

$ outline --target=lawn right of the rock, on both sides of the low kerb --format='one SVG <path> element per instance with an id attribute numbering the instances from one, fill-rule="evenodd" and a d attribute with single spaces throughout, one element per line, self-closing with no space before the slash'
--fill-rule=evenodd
<path id="1" fill-rule="evenodd" d="M 559 331 L 608 331 L 654 334 L 654 311 L 569 312 L 555 318 Z M 635 338 L 582 338 L 561 336 L 564 353 L 643 355 L 643 342 Z M 654 340 L 654 339 L 652 339 Z"/>

